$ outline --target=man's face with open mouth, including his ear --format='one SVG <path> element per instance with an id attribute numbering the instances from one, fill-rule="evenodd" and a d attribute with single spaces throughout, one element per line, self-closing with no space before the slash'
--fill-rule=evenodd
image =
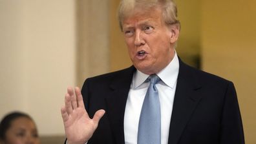
<path id="1" fill-rule="evenodd" d="M 147 12 L 137 8 L 122 24 L 134 67 L 144 74 L 156 74 L 171 62 L 178 28 L 165 25 L 160 8 Z"/>

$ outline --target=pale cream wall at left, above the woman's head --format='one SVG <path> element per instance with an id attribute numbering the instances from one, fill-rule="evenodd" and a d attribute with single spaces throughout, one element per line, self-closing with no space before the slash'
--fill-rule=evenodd
<path id="1" fill-rule="evenodd" d="M 60 107 L 76 77 L 74 8 L 74 1 L 0 1 L 0 118 L 22 110 L 41 135 L 64 133 Z"/>

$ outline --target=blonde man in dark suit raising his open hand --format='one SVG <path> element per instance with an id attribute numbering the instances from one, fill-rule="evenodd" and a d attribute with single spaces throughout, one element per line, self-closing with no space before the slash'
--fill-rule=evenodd
<path id="1" fill-rule="evenodd" d="M 233 83 L 178 58 L 176 16 L 171 0 L 121 1 L 133 66 L 87 79 L 81 93 L 68 88 L 61 114 L 69 144 L 244 143 Z M 149 84 L 152 77 L 159 82 Z M 153 95 L 159 103 L 148 106 Z"/>

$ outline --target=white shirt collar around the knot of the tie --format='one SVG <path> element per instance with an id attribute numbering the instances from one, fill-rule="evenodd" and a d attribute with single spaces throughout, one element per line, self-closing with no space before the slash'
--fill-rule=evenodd
<path id="1" fill-rule="evenodd" d="M 178 62 L 178 56 L 175 52 L 175 56 L 171 60 L 171 62 L 162 69 L 158 74 L 156 74 L 160 79 L 167 85 L 168 87 L 175 87 L 176 80 L 178 78 L 178 69 L 180 65 Z M 133 88 L 138 88 L 140 85 L 144 83 L 144 81 L 149 77 L 149 75 L 140 72 L 140 70 L 136 70 L 133 75 Z"/>

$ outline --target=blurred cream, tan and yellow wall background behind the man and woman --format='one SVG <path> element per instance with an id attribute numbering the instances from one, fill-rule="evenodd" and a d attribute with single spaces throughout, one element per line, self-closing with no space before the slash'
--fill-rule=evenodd
<path id="1" fill-rule="evenodd" d="M 129 67 L 119 0 L 0 0 L 0 118 L 36 121 L 43 143 L 63 143 L 60 108 L 68 86 Z M 246 143 L 256 143 L 256 1 L 176 0 L 178 55 L 233 81 Z"/>

